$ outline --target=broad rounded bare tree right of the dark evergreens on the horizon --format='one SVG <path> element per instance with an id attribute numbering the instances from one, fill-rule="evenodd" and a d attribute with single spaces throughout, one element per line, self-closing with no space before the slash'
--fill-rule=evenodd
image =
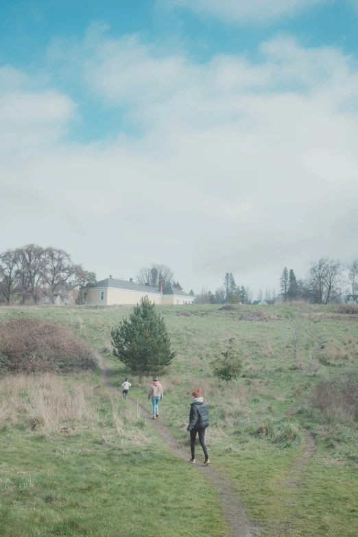
<path id="1" fill-rule="evenodd" d="M 329 304 L 342 296 L 344 285 L 344 265 L 339 259 L 321 257 L 311 263 L 307 276 L 307 289 L 312 302 Z"/>

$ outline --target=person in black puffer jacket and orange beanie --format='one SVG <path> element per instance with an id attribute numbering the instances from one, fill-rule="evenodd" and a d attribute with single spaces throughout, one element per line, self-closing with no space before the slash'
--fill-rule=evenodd
<path id="1" fill-rule="evenodd" d="M 191 446 L 191 460 L 188 462 L 195 463 L 195 440 L 196 435 L 199 435 L 200 446 L 202 446 L 202 451 L 204 451 L 205 461 L 204 466 L 208 466 L 210 460 L 208 458 L 208 450 L 205 445 L 205 429 L 208 427 L 208 409 L 202 398 L 202 389 L 194 390 L 193 393 L 194 401 L 191 403 L 190 416 L 189 416 L 189 425 L 187 431 L 190 432 L 190 446 Z"/>

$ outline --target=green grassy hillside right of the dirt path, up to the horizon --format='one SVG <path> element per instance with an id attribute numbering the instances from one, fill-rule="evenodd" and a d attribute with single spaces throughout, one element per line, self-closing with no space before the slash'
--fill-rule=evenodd
<path id="1" fill-rule="evenodd" d="M 166 389 L 160 420 L 187 447 L 189 455 L 185 428 L 191 391 L 202 385 L 211 416 L 207 435 L 211 460 L 232 480 L 250 516 L 265 525 L 269 537 L 353 537 L 357 533 L 358 424 L 339 422 L 305 402 L 323 379 L 358 367 L 358 319 L 334 315 L 335 309 L 258 307 L 256 311 L 274 313 L 278 320 L 249 322 L 239 317 L 255 311 L 253 307 L 233 312 L 219 311 L 217 306 L 183 307 L 193 317 L 177 318 L 170 307 L 160 307 L 178 352 L 163 377 Z M 130 311 L 127 307 L 16 308 L 0 309 L 0 319 L 43 315 L 71 326 L 106 354 L 109 377 L 119 386 L 128 371 L 110 357 L 110 328 Z M 302 318 L 296 360 L 293 312 Z M 237 341 L 243 377 L 226 390 L 211 377 L 209 363 L 224 350 L 229 337 Z M 130 396 L 150 409 L 148 382 L 142 385 L 134 378 Z M 294 406 L 298 411 L 287 416 Z M 308 462 L 304 429 L 318 440 L 318 449 Z M 167 456 L 175 466 L 175 457 Z M 169 463 L 163 482 L 176 479 L 171 474 L 174 466 Z M 131 471 L 136 475 L 140 468 L 141 464 L 133 464 Z M 208 494 L 213 497 L 212 490 Z M 209 535 L 215 535 L 214 531 Z"/>

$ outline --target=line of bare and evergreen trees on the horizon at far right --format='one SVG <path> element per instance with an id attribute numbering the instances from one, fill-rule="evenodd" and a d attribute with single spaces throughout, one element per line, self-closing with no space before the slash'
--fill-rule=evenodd
<path id="1" fill-rule="evenodd" d="M 305 300 L 312 304 L 343 302 L 352 294 L 358 304 L 358 258 L 350 263 L 329 256 L 312 262 L 305 278 L 297 279 L 293 269 L 283 268 L 280 297 L 283 302 Z"/>

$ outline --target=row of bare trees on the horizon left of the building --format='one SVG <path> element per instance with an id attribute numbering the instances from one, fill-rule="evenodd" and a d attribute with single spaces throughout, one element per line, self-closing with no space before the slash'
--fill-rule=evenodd
<path id="1" fill-rule="evenodd" d="M 54 303 L 57 295 L 93 285 L 95 274 L 73 263 L 70 254 L 59 248 L 27 244 L 0 254 L 0 296 L 8 305 L 38 304 L 44 296 Z"/>

